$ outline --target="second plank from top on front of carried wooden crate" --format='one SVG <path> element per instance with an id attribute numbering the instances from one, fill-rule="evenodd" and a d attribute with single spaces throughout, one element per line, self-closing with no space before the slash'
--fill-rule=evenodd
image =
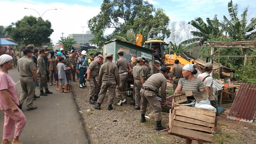
<path id="1" fill-rule="evenodd" d="M 185 117 L 201 120 L 208 123 L 214 123 L 214 120 L 215 120 L 215 117 L 196 114 L 189 111 L 175 110 L 175 112 L 176 112 L 176 116 L 185 116 Z"/>

